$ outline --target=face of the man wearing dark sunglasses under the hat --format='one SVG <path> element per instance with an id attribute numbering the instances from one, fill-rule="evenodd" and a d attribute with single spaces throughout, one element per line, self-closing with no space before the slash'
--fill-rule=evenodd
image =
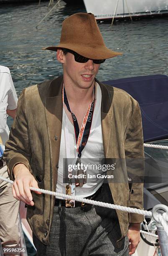
<path id="1" fill-rule="evenodd" d="M 59 51 L 61 50 L 57 51 L 57 59 L 60 61 L 58 55 L 61 53 Z M 63 63 L 64 69 L 64 82 L 81 89 L 87 89 L 92 86 L 100 64 L 94 64 L 90 59 L 86 63 L 79 63 L 75 61 L 74 55 L 69 52 L 61 55 L 61 58 L 60 62 Z"/>

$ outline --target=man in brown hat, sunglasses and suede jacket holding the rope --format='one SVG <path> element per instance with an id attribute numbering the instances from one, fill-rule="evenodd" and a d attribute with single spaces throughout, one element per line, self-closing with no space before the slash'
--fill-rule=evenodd
<path id="1" fill-rule="evenodd" d="M 30 186 L 66 195 L 75 189 L 76 195 L 93 200 L 143 207 L 140 183 L 132 184 L 131 195 L 128 182 L 88 182 L 81 169 L 83 179 L 76 179 L 75 185 L 71 176 L 63 182 L 64 158 L 75 158 L 81 166 L 86 159 L 94 163 L 143 157 L 138 103 L 95 79 L 100 64 L 120 53 L 107 49 L 91 13 L 66 18 L 59 46 L 46 49 L 57 51 L 63 77 L 23 90 L 5 150 L 13 195 L 28 205 L 37 254 L 128 255 L 128 240 L 132 254 L 140 241 L 143 216 L 30 192 Z"/>

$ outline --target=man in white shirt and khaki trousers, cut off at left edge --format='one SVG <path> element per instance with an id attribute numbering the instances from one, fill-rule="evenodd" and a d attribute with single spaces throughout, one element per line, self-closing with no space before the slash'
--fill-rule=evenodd
<path id="1" fill-rule="evenodd" d="M 5 150 L 9 139 L 7 114 L 15 118 L 18 97 L 8 67 L 0 66 L 0 148 Z M 0 158 L 0 176 L 8 178 L 7 166 Z M 12 185 L 0 179 L 0 241 L 2 246 L 17 246 L 20 242 L 18 229 L 19 201 L 13 197 Z"/>

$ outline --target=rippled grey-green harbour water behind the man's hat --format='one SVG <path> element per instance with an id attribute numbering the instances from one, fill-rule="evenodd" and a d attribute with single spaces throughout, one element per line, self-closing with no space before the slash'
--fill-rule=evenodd
<path id="1" fill-rule="evenodd" d="M 37 29 L 51 9 L 48 3 L 0 6 L 0 64 L 10 68 L 18 95 L 23 88 L 62 73 L 56 52 L 41 48 L 59 43 L 64 18 L 86 12 L 61 1 Z M 123 52 L 101 64 L 99 80 L 168 74 L 168 18 L 117 22 L 112 27 L 99 23 L 99 28 L 107 47 Z"/>

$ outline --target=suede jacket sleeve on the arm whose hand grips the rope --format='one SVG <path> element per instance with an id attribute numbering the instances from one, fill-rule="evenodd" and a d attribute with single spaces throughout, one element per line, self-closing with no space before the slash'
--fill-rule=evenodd
<path id="1" fill-rule="evenodd" d="M 26 113 L 25 90 L 21 93 L 15 120 L 10 130 L 9 140 L 5 144 L 3 154 L 8 166 L 10 179 L 14 180 L 13 168 L 16 164 L 23 163 L 30 170 L 31 145 L 29 140 L 28 120 Z"/>

